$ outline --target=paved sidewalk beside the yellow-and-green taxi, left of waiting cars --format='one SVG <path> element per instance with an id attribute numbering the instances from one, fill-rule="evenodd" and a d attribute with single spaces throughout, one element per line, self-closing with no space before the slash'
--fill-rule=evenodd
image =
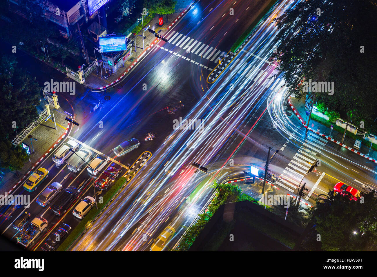
<path id="1" fill-rule="evenodd" d="M 63 112 L 61 108 L 59 108 L 58 110 L 60 112 Z M 30 135 L 32 135 L 33 138 L 37 139 L 37 141 L 35 141 L 34 139 L 32 140 L 34 152 L 30 139 L 26 137 L 23 140 L 23 142 L 25 144 L 28 144 L 30 147 L 31 155 L 29 156 L 29 162 L 26 162 L 21 170 L 10 171 L 8 169 L 4 171 L 4 173 L 6 174 L 5 176 L 3 176 L 3 181 L 0 183 L 0 194 L 4 195 L 5 193 L 10 193 L 12 190 L 14 190 L 15 187 L 17 187 L 18 184 L 25 181 L 25 178 L 30 173 L 30 171 L 38 168 L 38 164 L 49 152 L 51 152 L 52 149 L 54 149 L 54 147 L 57 146 L 57 143 L 60 142 L 64 133 L 67 133 L 69 122 L 65 120 L 65 116 L 57 112 L 54 112 L 54 115 L 57 130 L 55 130 L 55 124 L 54 122 L 52 122 L 51 116 L 48 121 L 42 121 L 38 125 L 38 127 L 35 128 L 33 132 L 31 132 Z"/>

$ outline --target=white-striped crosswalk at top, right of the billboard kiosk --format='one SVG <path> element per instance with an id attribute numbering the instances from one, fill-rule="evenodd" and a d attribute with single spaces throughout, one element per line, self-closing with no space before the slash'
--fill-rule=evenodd
<path id="1" fill-rule="evenodd" d="M 169 43 L 174 44 L 175 46 L 178 46 L 186 51 L 189 50 L 188 52 L 202 56 L 202 58 L 215 63 L 217 63 L 218 58 L 224 57 L 227 54 L 224 51 L 204 44 L 198 40 L 195 40 L 194 38 L 179 34 L 179 32 L 172 31 L 166 38 L 169 40 Z"/>

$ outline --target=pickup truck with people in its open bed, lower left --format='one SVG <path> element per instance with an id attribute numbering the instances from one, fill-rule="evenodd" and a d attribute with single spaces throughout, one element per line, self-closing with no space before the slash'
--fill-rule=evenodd
<path id="1" fill-rule="evenodd" d="M 43 217 L 35 217 L 29 224 L 24 226 L 17 235 L 17 243 L 28 248 L 29 245 L 46 229 L 47 220 Z"/>

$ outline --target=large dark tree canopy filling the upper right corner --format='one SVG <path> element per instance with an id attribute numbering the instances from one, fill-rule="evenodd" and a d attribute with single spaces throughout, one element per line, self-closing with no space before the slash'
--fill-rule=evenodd
<path id="1" fill-rule="evenodd" d="M 377 92 L 372 81 L 376 14 L 370 0 L 299 3 L 277 18 L 277 52 L 272 54 L 291 94 L 306 96 L 302 81 L 334 82 L 333 95 L 316 92 L 317 99 L 328 112 L 356 125 L 364 121 L 369 132 L 377 130 L 377 100 L 371 97 Z"/>

